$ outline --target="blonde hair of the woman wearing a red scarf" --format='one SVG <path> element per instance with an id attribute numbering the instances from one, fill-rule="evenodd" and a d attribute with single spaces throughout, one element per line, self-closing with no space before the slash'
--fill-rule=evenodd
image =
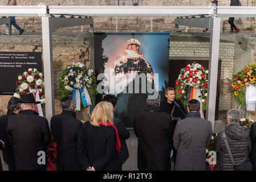
<path id="1" fill-rule="evenodd" d="M 92 111 L 90 122 L 94 126 L 100 126 L 99 121 L 106 125 L 107 121 L 113 123 L 113 105 L 110 102 L 99 102 Z"/>

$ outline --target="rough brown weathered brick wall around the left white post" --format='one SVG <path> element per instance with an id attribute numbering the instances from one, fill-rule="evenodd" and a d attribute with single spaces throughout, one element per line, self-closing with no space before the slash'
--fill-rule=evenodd
<path id="1" fill-rule="evenodd" d="M 86 65 L 90 64 L 90 52 L 92 45 L 92 35 L 76 36 L 52 36 L 53 44 L 53 61 L 54 61 L 54 85 L 57 85 L 59 73 L 72 64 L 74 61 L 80 61 Z M 40 35 L 23 35 L 23 36 L 1 36 L 0 52 L 42 52 L 42 36 Z M 43 61 L 43 57 L 42 57 Z M 62 109 L 58 100 L 57 87 L 55 93 L 55 114 L 59 114 Z M 7 103 L 11 96 L 0 96 L 0 115 L 6 113 Z M 87 111 L 79 112 L 78 118 L 88 119 Z"/>

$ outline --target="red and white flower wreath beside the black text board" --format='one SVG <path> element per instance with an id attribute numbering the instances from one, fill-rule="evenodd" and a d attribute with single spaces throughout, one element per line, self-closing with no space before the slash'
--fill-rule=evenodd
<path id="1" fill-rule="evenodd" d="M 35 94 L 39 92 L 40 102 L 42 107 L 45 105 L 44 96 L 44 75 L 39 72 L 36 68 L 29 68 L 21 75 L 18 76 L 18 80 L 15 82 L 17 85 L 14 97 L 21 98 L 24 93 Z"/>

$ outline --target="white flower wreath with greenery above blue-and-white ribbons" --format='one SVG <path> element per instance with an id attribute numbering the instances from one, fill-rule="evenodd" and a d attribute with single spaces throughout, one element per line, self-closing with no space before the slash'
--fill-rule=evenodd
<path id="1" fill-rule="evenodd" d="M 60 100 L 67 95 L 72 95 L 74 89 L 82 89 L 83 87 L 87 88 L 91 102 L 93 102 L 97 94 L 96 78 L 94 71 L 87 68 L 86 65 L 79 62 L 72 63 L 60 73 L 58 78 L 58 97 Z M 82 100 L 80 107 L 81 109 L 84 107 Z"/>

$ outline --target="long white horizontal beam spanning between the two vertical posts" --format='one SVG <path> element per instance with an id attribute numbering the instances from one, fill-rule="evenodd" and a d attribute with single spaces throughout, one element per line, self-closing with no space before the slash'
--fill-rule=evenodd
<path id="1" fill-rule="evenodd" d="M 190 16 L 213 14 L 209 6 L 49 6 L 50 14 L 83 16 Z"/>

